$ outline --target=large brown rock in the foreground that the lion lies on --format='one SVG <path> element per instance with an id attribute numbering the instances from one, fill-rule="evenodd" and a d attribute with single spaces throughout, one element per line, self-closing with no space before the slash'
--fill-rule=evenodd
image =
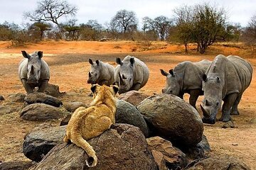
<path id="1" fill-rule="evenodd" d="M 139 128 L 127 124 L 112 125 L 99 137 L 88 140 L 95 149 L 98 164 L 88 168 L 86 152 L 74 144 L 60 144 L 37 164 L 36 169 L 156 169 L 146 139 Z"/>

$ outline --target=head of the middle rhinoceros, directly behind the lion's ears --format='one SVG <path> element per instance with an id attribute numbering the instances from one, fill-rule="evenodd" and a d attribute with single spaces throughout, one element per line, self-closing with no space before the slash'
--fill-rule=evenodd
<path id="1" fill-rule="evenodd" d="M 117 64 L 120 65 L 119 69 L 119 94 L 125 93 L 132 88 L 134 81 L 134 57 L 131 57 L 129 62 L 122 62 L 120 58 L 116 60 Z"/>

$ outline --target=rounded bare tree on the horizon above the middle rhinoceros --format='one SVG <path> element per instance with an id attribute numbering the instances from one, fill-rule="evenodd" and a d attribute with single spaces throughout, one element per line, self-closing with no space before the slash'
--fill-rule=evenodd
<path id="1" fill-rule="evenodd" d="M 122 33 L 137 29 L 138 19 L 134 11 L 125 9 L 117 11 L 117 14 L 111 19 L 110 25 L 112 28 L 119 30 Z"/>

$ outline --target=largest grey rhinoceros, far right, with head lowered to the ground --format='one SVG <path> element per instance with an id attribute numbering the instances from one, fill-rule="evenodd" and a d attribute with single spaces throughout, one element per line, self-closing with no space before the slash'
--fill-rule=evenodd
<path id="1" fill-rule="evenodd" d="M 203 75 L 203 123 L 214 124 L 221 107 L 220 120 L 228 122 L 231 115 L 238 115 L 242 93 L 252 80 L 252 66 L 241 57 L 218 55 Z"/>

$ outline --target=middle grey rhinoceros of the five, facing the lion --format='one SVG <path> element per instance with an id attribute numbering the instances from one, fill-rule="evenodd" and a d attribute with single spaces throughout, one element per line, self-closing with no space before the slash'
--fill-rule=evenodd
<path id="1" fill-rule="evenodd" d="M 121 61 L 116 59 L 117 67 L 114 69 L 114 81 L 119 86 L 119 94 L 127 91 L 138 91 L 149 79 L 149 68 L 136 57 L 127 56 Z"/>

